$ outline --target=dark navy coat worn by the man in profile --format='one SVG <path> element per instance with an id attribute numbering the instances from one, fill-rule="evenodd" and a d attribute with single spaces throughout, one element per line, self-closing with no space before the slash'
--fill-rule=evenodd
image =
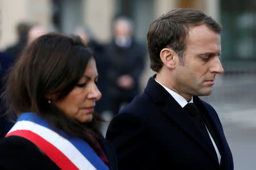
<path id="1" fill-rule="evenodd" d="M 233 169 L 233 158 L 214 109 L 199 97 L 220 143 L 221 164 L 203 132 L 176 100 L 152 77 L 110 122 L 106 139 L 114 146 L 119 170 Z"/>

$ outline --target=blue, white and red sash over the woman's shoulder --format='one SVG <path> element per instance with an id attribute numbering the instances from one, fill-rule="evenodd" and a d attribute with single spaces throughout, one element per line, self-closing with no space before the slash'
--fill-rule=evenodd
<path id="1" fill-rule="evenodd" d="M 59 135 L 35 113 L 21 114 L 6 137 L 10 135 L 28 139 L 61 169 L 109 169 L 88 143 L 63 131 Z"/>

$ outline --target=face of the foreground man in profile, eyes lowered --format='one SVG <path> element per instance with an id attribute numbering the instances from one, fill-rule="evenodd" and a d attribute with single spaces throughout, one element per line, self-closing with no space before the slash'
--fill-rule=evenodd
<path id="1" fill-rule="evenodd" d="M 206 25 L 189 28 L 184 54 L 184 65 L 178 61 L 174 69 L 176 92 L 185 99 L 192 95 L 212 93 L 216 74 L 223 73 L 218 56 L 221 54 L 221 37 Z"/>

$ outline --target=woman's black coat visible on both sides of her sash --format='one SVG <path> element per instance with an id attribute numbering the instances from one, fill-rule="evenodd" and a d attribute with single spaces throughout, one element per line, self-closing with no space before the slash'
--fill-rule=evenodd
<path id="1" fill-rule="evenodd" d="M 110 170 L 117 170 L 117 160 L 113 148 L 103 138 L 101 145 Z M 0 140 L 0 169 L 60 169 L 34 143 L 25 138 L 10 136 Z"/>

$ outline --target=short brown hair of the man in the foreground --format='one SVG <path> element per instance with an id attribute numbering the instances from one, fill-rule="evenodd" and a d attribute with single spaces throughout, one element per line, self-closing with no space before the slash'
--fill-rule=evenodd
<path id="1" fill-rule="evenodd" d="M 183 63 L 189 28 L 202 24 L 216 33 L 222 31 L 220 23 L 195 9 L 176 8 L 154 20 L 147 33 L 151 69 L 158 72 L 162 68 L 160 52 L 163 48 L 172 48 Z"/>

